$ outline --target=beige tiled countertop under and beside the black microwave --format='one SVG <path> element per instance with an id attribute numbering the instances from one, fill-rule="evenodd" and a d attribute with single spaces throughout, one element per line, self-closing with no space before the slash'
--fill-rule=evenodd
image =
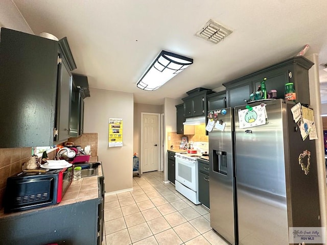
<path id="1" fill-rule="evenodd" d="M 50 205 L 41 208 L 35 208 L 31 210 L 25 210 L 20 212 L 4 213 L 4 208 L 0 210 L 0 218 L 5 218 L 9 216 L 16 216 L 23 213 L 38 212 L 43 209 L 52 209 L 64 205 L 74 204 L 77 202 L 88 201 L 92 199 L 99 199 L 99 182 L 98 177 L 103 176 L 101 164 L 98 166 L 98 176 L 84 177 L 81 180 L 73 181 L 68 187 L 63 199 L 60 203 L 55 205 Z"/>

